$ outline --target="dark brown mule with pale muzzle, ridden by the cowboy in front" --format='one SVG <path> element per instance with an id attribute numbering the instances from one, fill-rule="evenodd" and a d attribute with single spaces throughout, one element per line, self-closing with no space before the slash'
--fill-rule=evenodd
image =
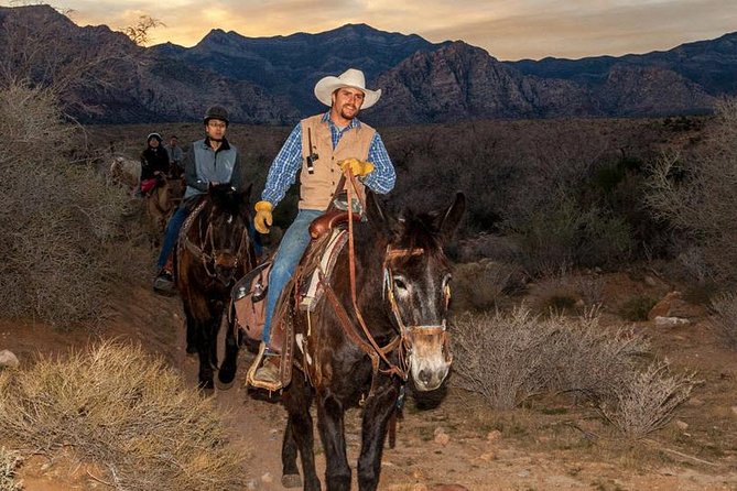
<path id="1" fill-rule="evenodd" d="M 388 425 L 402 385 L 411 378 L 418 390 L 435 390 L 451 367 L 445 330 L 451 270 L 443 247 L 465 204 L 459 193 L 447 209 L 408 212 L 397 220 L 369 193 L 368 223 L 354 227 L 355 283 L 347 247 L 332 277 L 323 279 L 325 295 L 311 318 L 292 307 L 296 370 L 282 394 L 289 413 L 282 447 L 285 487 L 302 484 L 299 451 L 304 489 L 321 489 L 310 415 L 315 401 L 327 489 L 350 490 L 344 415 L 359 403 L 358 484 L 360 490 L 377 489 Z"/>

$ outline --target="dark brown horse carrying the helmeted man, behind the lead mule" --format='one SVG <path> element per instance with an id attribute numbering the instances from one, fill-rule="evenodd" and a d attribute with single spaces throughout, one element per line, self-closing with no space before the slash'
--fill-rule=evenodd
<path id="1" fill-rule="evenodd" d="M 250 240 L 250 206 L 246 193 L 229 185 L 210 186 L 186 219 L 176 250 L 177 285 L 187 319 L 187 352 L 199 356 L 198 385 L 213 389 L 217 367 L 217 335 L 232 285 L 256 265 Z M 223 384 L 236 374 L 238 345 L 228 329 Z"/>

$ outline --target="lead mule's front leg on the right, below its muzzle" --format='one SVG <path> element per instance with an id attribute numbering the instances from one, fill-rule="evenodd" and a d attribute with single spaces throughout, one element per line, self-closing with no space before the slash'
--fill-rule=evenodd
<path id="1" fill-rule="evenodd" d="M 397 411 L 399 389 L 395 383 L 383 385 L 364 405 L 361 421 L 361 452 L 358 457 L 358 489 L 375 491 L 381 473 L 381 454 L 387 425 Z"/>

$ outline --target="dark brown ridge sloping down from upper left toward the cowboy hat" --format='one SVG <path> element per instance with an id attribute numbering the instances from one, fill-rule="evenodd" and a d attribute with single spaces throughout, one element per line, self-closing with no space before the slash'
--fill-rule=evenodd
<path id="1" fill-rule="evenodd" d="M 119 32 L 79 28 L 48 6 L 0 8 L 0 68 L 8 78 L 53 87 L 83 122 L 192 121 L 213 103 L 241 122 L 299 117 L 254 84 L 152 56 Z"/>

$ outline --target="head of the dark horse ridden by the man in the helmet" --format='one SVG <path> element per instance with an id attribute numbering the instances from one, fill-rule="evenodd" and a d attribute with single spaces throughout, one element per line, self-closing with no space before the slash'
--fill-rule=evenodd
<path id="1" fill-rule="evenodd" d="M 228 184 L 210 186 L 207 238 L 203 249 L 212 257 L 214 274 L 224 285 L 229 285 L 239 269 L 250 268 L 249 195 L 236 192 Z"/>

